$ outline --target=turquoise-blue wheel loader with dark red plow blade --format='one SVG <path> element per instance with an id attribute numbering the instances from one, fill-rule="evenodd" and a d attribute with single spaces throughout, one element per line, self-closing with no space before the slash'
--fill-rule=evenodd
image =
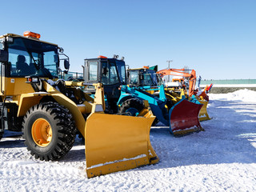
<path id="1" fill-rule="evenodd" d="M 105 90 L 106 113 L 126 114 L 138 116 L 144 108 L 144 101 L 148 101 L 150 109 L 158 121 L 170 127 L 174 135 L 188 134 L 203 130 L 198 120 L 202 107 L 200 104 L 189 102 L 185 98 L 179 102 L 172 102 L 166 98 L 163 86 L 155 86 L 149 77 L 130 72 L 126 77 L 126 63 L 124 59 L 99 56 L 85 59 L 84 80 L 86 83 L 101 82 Z M 129 82 L 127 81 L 129 80 Z M 148 82 L 148 86 L 142 86 Z M 150 94 L 147 90 L 158 90 L 158 95 Z M 94 94 L 94 88 L 86 91 Z"/>

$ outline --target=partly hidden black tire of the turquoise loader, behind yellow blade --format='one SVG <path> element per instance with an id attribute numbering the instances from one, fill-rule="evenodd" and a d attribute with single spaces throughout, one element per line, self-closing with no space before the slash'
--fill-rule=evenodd
<path id="1" fill-rule="evenodd" d="M 144 103 L 142 101 L 138 100 L 138 98 L 129 98 L 122 103 L 119 109 L 119 114 L 137 116 L 143 109 Z"/>

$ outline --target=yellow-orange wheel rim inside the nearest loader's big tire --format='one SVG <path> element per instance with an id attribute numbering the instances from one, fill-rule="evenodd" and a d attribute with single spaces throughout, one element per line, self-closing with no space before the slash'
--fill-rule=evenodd
<path id="1" fill-rule="evenodd" d="M 50 123 L 44 118 L 38 118 L 32 125 L 32 138 L 38 146 L 48 146 L 52 139 Z"/>

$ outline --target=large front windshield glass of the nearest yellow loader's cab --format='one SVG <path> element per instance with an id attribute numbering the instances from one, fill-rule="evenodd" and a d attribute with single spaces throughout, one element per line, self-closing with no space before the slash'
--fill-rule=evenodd
<path id="1" fill-rule="evenodd" d="M 58 75 L 58 46 L 26 38 L 8 44 L 10 76 Z"/>

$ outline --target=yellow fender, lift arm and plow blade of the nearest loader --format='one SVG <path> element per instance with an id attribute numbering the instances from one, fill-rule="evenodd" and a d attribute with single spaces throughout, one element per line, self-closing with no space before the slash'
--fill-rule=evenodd
<path id="1" fill-rule="evenodd" d="M 72 86 L 72 83 L 66 82 L 66 85 Z M 94 102 L 84 102 L 80 106 L 47 82 L 42 82 L 42 86 L 46 90 L 45 93 L 21 94 L 19 114 L 24 114 L 26 109 L 34 106 L 46 95 L 53 97 L 70 110 L 78 130 L 86 140 L 88 178 L 159 161 L 150 144 L 150 126 L 155 118 L 150 110 L 145 109 L 140 117 L 104 114 L 104 90 L 101 84 L 94 85 L 96 87 Z M 95 112 L 97 108 L 102 110 Z M 90 113 L 86 120 L 82 112 Z"/>

